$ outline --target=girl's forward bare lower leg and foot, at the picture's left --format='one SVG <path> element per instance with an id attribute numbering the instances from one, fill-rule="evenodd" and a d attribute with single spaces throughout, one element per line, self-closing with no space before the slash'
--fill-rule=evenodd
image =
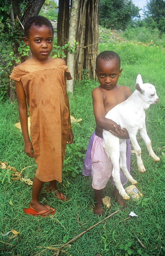
<path id="1" fill-rule="evenodd" d="M 29 206 L 31 209 L 33 209 L 37 212 L 47 209 L 46 206 L 42 205 L 39 202 L 39 195 L 40 195 L 42 186 L 43 186 L 43 182 L 41 180 L 39 180 L 36 176 L 34 176 L 33 186 L 32 186 L 32 197 L 31 197 L 31 202 L 30 202 Z M 45 215 L 45 216 L 49 215 L 55 210 L 52 207 L 50 207 L 50 209 L 51 209 L 50 211 L 45 212 L 45 214 L 43 214 L 43 215 Z"/>

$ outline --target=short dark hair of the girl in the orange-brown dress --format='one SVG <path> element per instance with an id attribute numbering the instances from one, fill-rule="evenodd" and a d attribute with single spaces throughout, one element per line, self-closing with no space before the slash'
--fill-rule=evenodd
<path id="1" fill-rule="evenodd" d="M 52 30 L 52 36 L 54 36 L 54 28 L 52 26 L 52 23 L 49 21 L 49 19 L 47 19 L 43 16 L 40 16 L 40 15 L 35 15 L 35 16 L 30 17 L 24 25 L 25 37 L 29 37 L 30 30 L 32 27 L 34 27 L 34 26 L 42 27 L 43 25 L 50 28 Z"/>

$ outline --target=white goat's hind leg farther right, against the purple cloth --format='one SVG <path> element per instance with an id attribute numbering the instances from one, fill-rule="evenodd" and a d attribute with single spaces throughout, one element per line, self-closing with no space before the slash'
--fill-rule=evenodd
<path id="1" fill-rule="evenodd" d="M 128 169 L 127 169 L 126 140 L 120 139 L 119 147 L 120 147 L 120 168 L 122 169 L 127 180 L 129 180 L 132 183 L 132 185 L 135 185 L 135 184 L 137 184 L 137 181 L 135 179 L 133 179 L 133 177 L 131 176 L 131 174 L 128 172 Z"/>

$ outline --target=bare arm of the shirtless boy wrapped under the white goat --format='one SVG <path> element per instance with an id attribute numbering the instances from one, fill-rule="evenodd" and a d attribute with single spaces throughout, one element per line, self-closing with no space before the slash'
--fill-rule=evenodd
<path id="1" fill-rule="evenodd" d="M 123 139 L 129 138 L 128 132 L 126 129 L 121 129 L 119 125 L 113 122 L 110 119 L 105 118 L 104 110 L 104 97 L 102 91 L 99 88 L 95 88 L 92 91 L 93 98 L 93 112 L 96 119 L 96 125 L 104 130 L 112 131 L 112 133 Z"/>

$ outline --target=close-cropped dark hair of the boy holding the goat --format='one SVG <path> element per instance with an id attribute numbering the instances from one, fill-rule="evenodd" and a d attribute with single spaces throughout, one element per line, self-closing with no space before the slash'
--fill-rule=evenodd
<path id="1" fill-rule="evenodd" d="M 120 69 L 120 57 L 114 51 L 103 51 L 103 52 L 101 52 L 96 58 L 96 69 L 98 68 L 98 62 L 100 60 L 104 60 L 104 61 L 116 60 L 117 64 L 119 65 L 119 69 Z"/>

